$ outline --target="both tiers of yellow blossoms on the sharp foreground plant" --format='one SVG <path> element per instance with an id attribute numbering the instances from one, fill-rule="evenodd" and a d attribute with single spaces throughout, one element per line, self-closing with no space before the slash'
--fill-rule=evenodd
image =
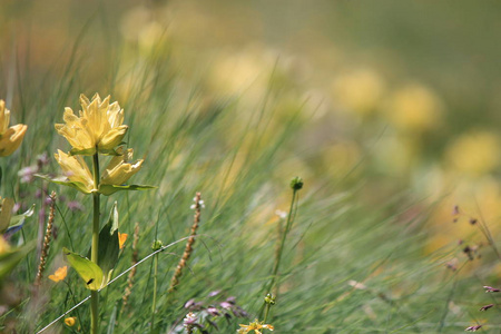
<path id="1" fill-rule="evenodd" d="M 80 96 L 79 116 L 70 108 L 65 109 L 66 124 L 56 124 L 56 130 L 72 146 L 66 154 L 58 150 L 56 160 L 62 169 L 65 178 L 55 180 L 73 187 L 84 194 L 100 193 L 111 195 L 121 189 L 136 189 L 125 186 L 127 180 L 143 166 L 143 159 L 132 161 L 131 148 L 125 149 L 124 136 L 128 127 L 124 122 L 124 109 L 118 102 L 110 104 L 110 97 L 104 100 L 96 94 L 91 100 Z M 84 156 L 98 154 L 114 156 L 102 174 L 96 179 L 87 166 Z"/>

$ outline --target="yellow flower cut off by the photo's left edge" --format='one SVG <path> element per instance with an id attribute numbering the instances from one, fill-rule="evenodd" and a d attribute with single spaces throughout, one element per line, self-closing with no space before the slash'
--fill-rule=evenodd
<path id="1" fill-rule="evenodd" d="M 10 111 L 0 100 L 0 157 L 10 156 L 22 143 L 28 126 L 18 124 L 9 128 Z"/>

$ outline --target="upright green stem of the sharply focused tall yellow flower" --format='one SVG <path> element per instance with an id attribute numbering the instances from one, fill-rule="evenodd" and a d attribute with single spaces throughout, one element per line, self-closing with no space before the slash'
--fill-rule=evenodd
<path id="1" fill-rule="evenodd" d="M 99 156 L 94 155 L 94 185 L 99 188 Z M 99 193 L 92 193 L 94 216 L 92 216 L 92 248 L 90 250 L 90 261 L 98 264 L 99 254 Z M 90 292 L 90 328 L 92 334 L 99 333 L 99 294 L 97 291 Z"/>

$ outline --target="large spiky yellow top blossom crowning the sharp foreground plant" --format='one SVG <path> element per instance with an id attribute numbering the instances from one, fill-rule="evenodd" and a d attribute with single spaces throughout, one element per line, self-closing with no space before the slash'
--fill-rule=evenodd
<path id="1" fill-rule="evenodd" d="M 96 94 L 92 100 L 80 95 L 82 110 L 79 116 L 71 108 L 65 108 L 62 119 L 66 124 L 57 124 L 56 130 L 73 147 L 75 154 L 94 155 L 98 151 L 108 154 L 117 147 L 128 129 L 124 122 L 124 109 L 118 102 L 109 104 L 110 97 L 104 100 Z"/>

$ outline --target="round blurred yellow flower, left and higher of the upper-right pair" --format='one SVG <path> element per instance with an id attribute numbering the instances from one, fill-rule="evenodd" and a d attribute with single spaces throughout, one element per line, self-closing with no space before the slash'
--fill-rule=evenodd
<path id="1" fill-rule="evenodd" d="M 337 78 L 333 84 L 334 96 L 350 111 L 362 116 L 375 110 L 385 92 L 381 76 L 369 69 L 360 69 Z"/>

